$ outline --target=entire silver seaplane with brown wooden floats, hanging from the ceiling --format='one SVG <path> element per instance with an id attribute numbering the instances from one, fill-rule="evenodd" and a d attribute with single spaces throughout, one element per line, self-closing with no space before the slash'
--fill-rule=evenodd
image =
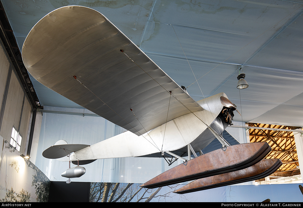
<path id="1" fill-rule="evenodd" d="M 263 178 L 281 166 L 280 160 L 263 159 L 271 151 L 267 143 L 231 145 L 222 136 L 237 110 L 225 93 L 196 102 L 91 8 L 65 6 L 43 17 L 26 37 L 22 58 L 43 85 L 128 130 L 93 145 L 60 140 L 43 152 L 46 158 L 78 165 L 117 157 L 164 157 L 169 165 L 181 159 L 142 184 L 155 188 L 195 180 L 176 193 Z M 217 148 L 203 153 L 213 140 Z M 62 176 L 84 173 L 76 166 Z"/>

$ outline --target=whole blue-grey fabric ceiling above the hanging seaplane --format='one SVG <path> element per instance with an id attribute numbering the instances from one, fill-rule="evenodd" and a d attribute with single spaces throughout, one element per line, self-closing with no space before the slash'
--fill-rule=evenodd
<path id="1" fill-rule="evenodd" d="M 52 10 L 105 15 L 196 100 L 225 92 L 235 121 L 303 126 L 303 1 L 2 1 L 18 47 Z M 238 69 L 240 69 L 238 71 Z M 239 90 L 238 73 L 247 89 Z M 198 81 L 197 81 L 198 80 Z M 80 107 L 32 79 L 43 106 Z"/>

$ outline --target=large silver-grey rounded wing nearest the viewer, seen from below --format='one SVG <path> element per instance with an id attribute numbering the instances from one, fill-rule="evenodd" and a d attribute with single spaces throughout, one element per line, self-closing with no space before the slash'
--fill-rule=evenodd
<path id="1" fill-rule="evenodd" d="M 66 6 L 43 17 L 25 39 L 22 59 L 43 85 L 137 135 L 203 110 L 91 8 Z"/>

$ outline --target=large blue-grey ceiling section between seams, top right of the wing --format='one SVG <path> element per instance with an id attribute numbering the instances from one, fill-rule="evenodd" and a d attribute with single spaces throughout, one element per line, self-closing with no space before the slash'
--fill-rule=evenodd
<path id="1" fill-rule="evenodd" d="M 276 1 L 156 2 L 140 47 L 184 57 L 180 41 L 188 58 L 244 63 L 300 6 Z"/>

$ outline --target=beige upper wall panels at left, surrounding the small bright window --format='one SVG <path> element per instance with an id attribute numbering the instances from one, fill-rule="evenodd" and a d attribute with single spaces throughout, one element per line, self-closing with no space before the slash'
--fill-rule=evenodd
<path id="1" fill-rule="evenodd" d="M 20 152 L 26 154 L 33 108 L 15 69 L 0 45 L 0 136 L 10 142 L 13 126 L 22 136 Z"/>

